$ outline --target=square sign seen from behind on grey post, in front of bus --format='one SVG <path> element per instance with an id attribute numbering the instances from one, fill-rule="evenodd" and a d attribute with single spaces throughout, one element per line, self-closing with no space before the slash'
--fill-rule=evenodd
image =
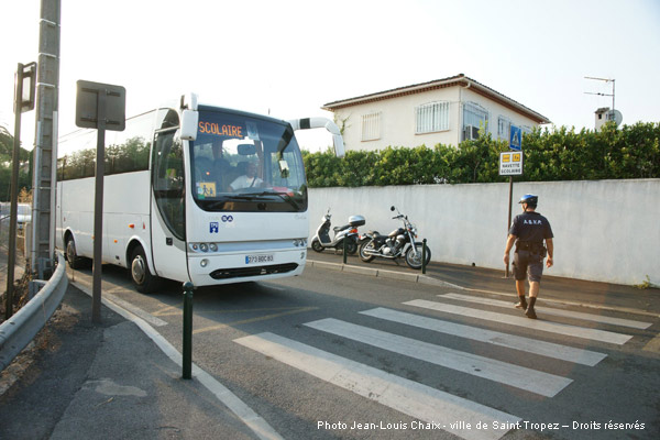
<path id="1" fill-rule="evenodd" d="M 103 175 L 106 130 L 123 131 L 127 123 L 127 90 L 121 86 L 79 80 L 76 125 L 97 129 L 96 189 L 94 198 L 94 266 L 91 320 L 101 321 L 101 255 L 103 244 Z"/>

